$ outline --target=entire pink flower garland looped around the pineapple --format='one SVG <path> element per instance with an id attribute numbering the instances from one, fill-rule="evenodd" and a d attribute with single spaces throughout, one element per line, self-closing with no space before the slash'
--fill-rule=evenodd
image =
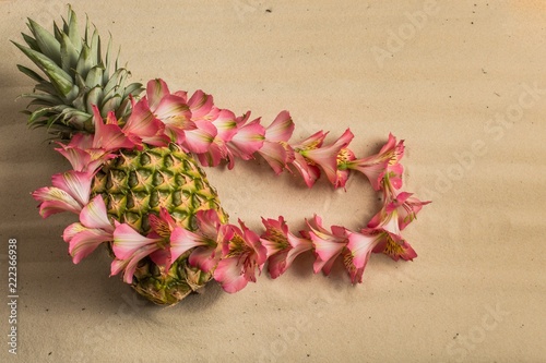
<path id="1" fill-rule="evenodd" d="M 356 158 L 347 147 L 353 140 L 346 130 L 335 142 L 324 144 L 328 133 L 319 131 L 299 143 L 290 142 L 294 122 L 282 111 L 269 126 L 261 120 L 250 120 L 250 112 L 236 117 L 227 109 L 214 106 L 212 96 L 202 90 L 188 97 L 186 92 L 170 93 L 162 80 L 147 83 L 146 96 L 132 99 L 132 113 L 117 120 L 109 113 L 106 120 L 94 108 L 94 134 L 76 134 L 69 144 L 56 148 L 72 165 L 72 170 L 55 174 L 52 186 L 33 193 L 40 202 L 40 215 L 46 218 L 60 211 L 78 214 L 80 221 L 63 232 L 74 264 L 90 255 L 98 245 L 111 243 L 115 259 L 110 276 L 123 273 L 132 282 L 139 262 L 150 256 L 168 271 L 173 262 L 191 250 L 189 263 L 203 271 L 212 271 L 225 291 L 236 292 L 256 281 L 268 262 L 272 278 L 281 276 L 304 252 L 316 255 L 314 273 L 329 275 L 334 262 L 343 263 L 353 283 L 363 281 L 363 273 L 371 253 L 383 253 L 397 261 L 417 256 L 402 237 L 402 230 L 416 217 L 422 202 L 403 192 L 404 142 L 390 134 L 376 155 Z M 307 229 L 295 234 L 283 217 L 263 219 L 260 235 L 239 225 L 222 223 L 215 210 L 199 210 L 195 232 L 176 223 L 162 208 L 158 216 L 150 215 L 151 232 L 141 235 L 128 223 L 110 220 L 100 195 L 91 198 L 95 173 L 122 149 L 142 149 L 145 145 L 179 145 L 192 153 L 203 166 L 215 167 L 235 159 L 249 160 L 262 156 L 275 173 L 297 171 L 311 187 L 321 171 L 334 187 L 345 187 L 352 171 L 364 173 L 371 186 L 382 193 L 379 213 L 360 230 L 341 226 L 329 229 L 314 216 L 306 220 Z"/>

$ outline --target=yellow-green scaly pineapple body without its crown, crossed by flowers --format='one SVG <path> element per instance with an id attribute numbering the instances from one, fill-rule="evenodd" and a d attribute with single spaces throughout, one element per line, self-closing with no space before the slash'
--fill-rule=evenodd
<path id="1" fill-rule="evenodd" d="M 144 235 L 151 230 L 150 214 L 158 215 L 162 207 L 177 225 L 190 231 L 197 230 L 198 210 L 214 209 L 223 223 L 228 220 L 203 169 L 175 144 L 121 152 L 95 176 L 92 196 L 97 194 L 105 199 L 112 219 Z M 109 250 L 112 255 L 111 243 Z M 156 304 L 178 303 L 212 279 L 211 273 L 189 265 L 190 253 L 178 257 L 168 271 L 144 258 L 136 268 L 132 288 Z"/>

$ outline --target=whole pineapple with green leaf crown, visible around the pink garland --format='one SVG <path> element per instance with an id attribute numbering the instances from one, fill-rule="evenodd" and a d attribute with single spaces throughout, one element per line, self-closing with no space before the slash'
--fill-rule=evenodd
<path id="1" fill-rule="evenodd" d="M 130 97 L 136 97 L 142 85 L 126 85 L 129 72 L 112 64 L 111 43 L 108 41 L 103 60 L 100 38 L 95 29 L 90 36 L 86 24 L 81 37 L 75 13 L 69 8 L 62 28 L 54 25 L 54 34 L 29 20 L 34 37 L 23 34 L 28 47 L 15 44 L 47 76 L 17 68 L 37 82 L 35 92 L 24 97 L 33 98 L 26 111 L 33 128 L 46 126 L 61 140 L 76 134 L 93 133 L 93 105 L 100 116 L 112 111 L 122 123 L 131 113 Z M 112 73 L 110 68 L 114 65 Z M 216 191 L 209 184 L 204 171 L 192 155 L 179 146 L 145 146 L 142 150 L 118 152 L 96 173 L 92 196 L 102 195 L 109 217 L 132 226 L 140 233 L 150 231 L 150 214 L 166 208 L 177 223 L 190 231 L 198 227 L 195 213 L 201 209 L 217 210 L 222 222 L 227 215 L 219 206 Z M 112 254 L 111 243 L 107 244 Z M 141 261 L 132 287 L 157 304 L 175 304 L 197 291 L 212 278 L 188 263 L 189 252 L 173 263 L 169 270 L 155 265 L 150 257 Z"/>

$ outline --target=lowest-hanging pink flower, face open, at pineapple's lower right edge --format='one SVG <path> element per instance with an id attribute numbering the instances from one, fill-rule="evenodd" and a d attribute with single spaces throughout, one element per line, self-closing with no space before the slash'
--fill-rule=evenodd
<path id="1" fill-rule="evenodd" d="M 234 237 L 222 246 L 223 258 L 214 270 L 214 279 L 227 292 L 237 292 L 249 281 L 256 282 L 256 269 L 261 271 L 266 250 L 260 237 L 239 220 L 241 229 L 233 226 Z"/>

